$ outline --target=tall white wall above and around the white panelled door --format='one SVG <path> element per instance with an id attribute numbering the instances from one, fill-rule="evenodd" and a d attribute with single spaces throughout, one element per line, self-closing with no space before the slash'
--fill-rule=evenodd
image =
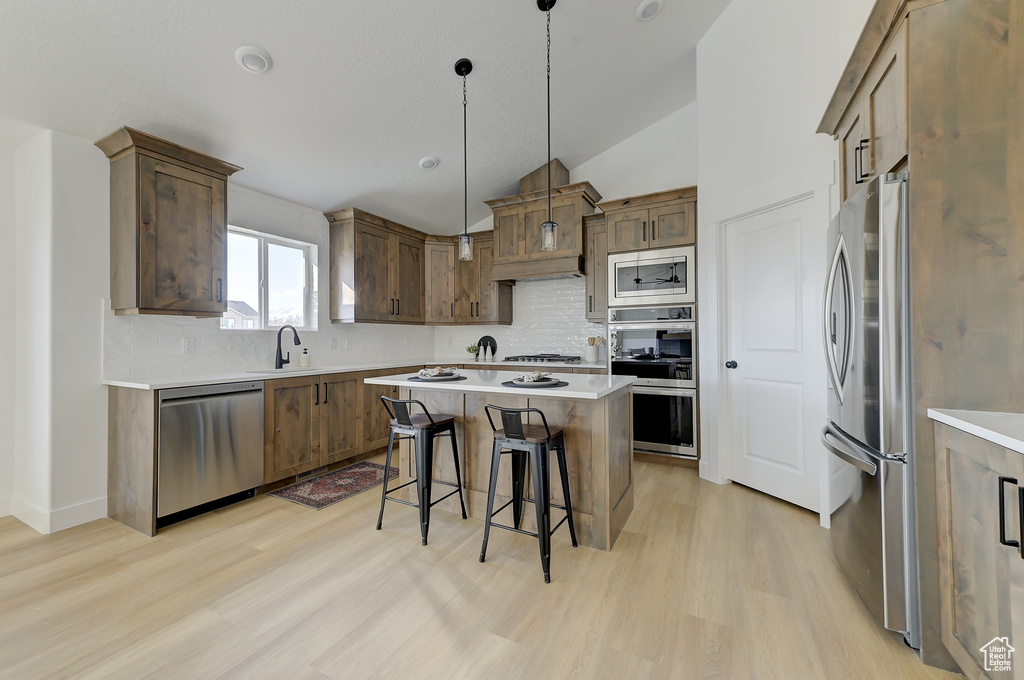
<path id="1" fill-rule="evenodd" d="M 837 148 L 815 130 L 848 57 L 837 46 L 846 1 L 733 0 L 697 45 L 700 474 L 716 481 L 728 478 L 732 426 L 721 368 L 718 226 L 813 194 L 820 229 L 827 228 Z M 819 487 L 826 486 L 822 478 Z"/>

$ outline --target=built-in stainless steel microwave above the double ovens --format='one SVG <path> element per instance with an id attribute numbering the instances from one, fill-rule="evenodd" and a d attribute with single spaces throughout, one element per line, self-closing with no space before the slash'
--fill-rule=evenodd
<path id="1" fill-rule="evenodd" d="M 696 302 L 693 246 L 608 256 L 608 306 Z"/>

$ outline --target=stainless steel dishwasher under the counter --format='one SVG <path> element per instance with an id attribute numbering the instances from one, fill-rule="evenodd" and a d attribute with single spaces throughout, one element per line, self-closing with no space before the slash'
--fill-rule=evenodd
<path id="1" fill-rule="evenodd" d="M 263 383 L 160 390 L 157 520 L 263 483 Z"/>

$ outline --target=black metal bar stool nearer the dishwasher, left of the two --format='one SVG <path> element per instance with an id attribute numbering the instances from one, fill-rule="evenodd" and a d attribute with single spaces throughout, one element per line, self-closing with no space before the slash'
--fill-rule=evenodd
<path id="1" fill-rule="evenodd" d="M 391 469 L 391 453 L 394 450 L 394 442 L 402 439 L 412 439 L 415 447 L 416 457 L 416 479 L 408 481 L 394 488 L 387 487 L 387 474 L 384 475 L 384 491 L 381 494 L 381 512 L 377 516 L 377 530 L 381 528 L 384 521 L 384 502 L 394 501 L 402 505 L 420 509 L 420 535 L 423 537 L 423 545 L 427 545 L 427 530 L 430 528 L 430 508 L 437 505 L 449 496 L 459 495 L 459 503 L 462 505 L 462 518 L 466 519 L 466 503 L 462 498 L 462 472 L 459 469 L 459 444 L 455 437 L 455 416 L 431 416 L 422 401 L 417 399 L 390 399 L 381 396 L 381 403 L 391 417 L 391 428 L 387 438 L 387 461 L 385 468 Z M 412 414 L 409 412 L 410 405 L 416 403 L 423 410 L 423 413 Z M 390 405 L 390 406 L 388 406 Z M 392 411 L 393 409 L 393 411 Z M 455 458 L 455 480 L 453 484 L 447 481 L 437 481 L 438 484 L 455 486 L 455 491 L 446 496 L 442 496 L 433 503 L 430 502 L 431 474 L 434 469 L 434 437 L 452 437 L 452 455 Z M 416 498 L 419 503 L 410 503 L 399 498 L 392 498 L 388 494 L 404 488 L 410 484 L 416 484 Z"/>

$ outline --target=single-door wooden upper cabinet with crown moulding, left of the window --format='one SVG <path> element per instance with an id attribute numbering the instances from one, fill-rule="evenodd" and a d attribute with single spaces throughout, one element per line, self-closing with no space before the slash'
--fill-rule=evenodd
<path id="1" fill-rule="evenodd" d="M 227 309 L 227 177 L 242 168 L 124 127 L 111 161 L 111 306 L 118 314 Z"/>

